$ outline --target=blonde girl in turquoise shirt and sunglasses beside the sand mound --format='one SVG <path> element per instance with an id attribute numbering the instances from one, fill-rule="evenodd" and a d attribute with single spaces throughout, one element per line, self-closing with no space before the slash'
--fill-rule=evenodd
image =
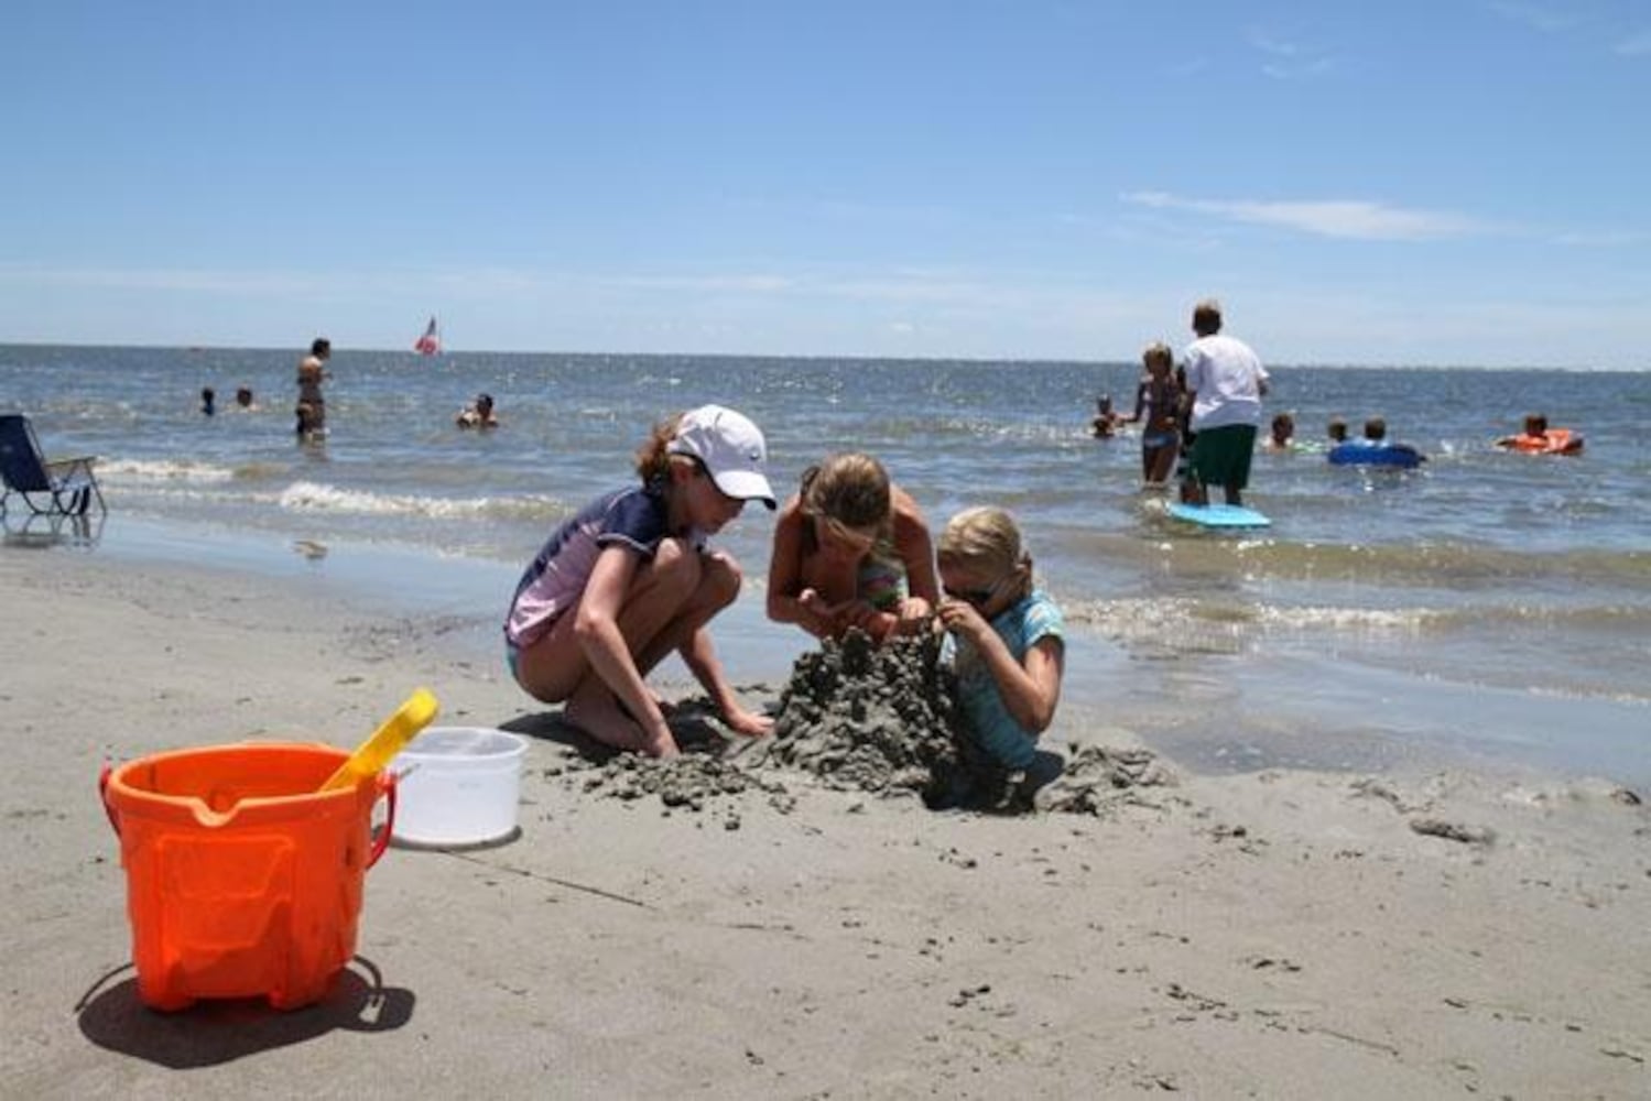
<path id="1" fill-rule="evenodd" d="M 1060 703 L 1060 607 L 1034 586 L 1032 556 L 1002 508 L 951 518 L 939 576 L 939 622 L 958 640 L 958 705 L 972 746 L 999 769 L 1029 769 Z"/>

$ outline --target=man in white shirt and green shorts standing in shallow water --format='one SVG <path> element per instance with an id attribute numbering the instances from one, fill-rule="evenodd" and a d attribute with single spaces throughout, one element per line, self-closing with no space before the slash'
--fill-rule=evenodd
<path id="1" fill-rule="evenodd" d="M 1182 365 L 1195 437 L 1180 499 L 1207 505 L 1209 487 L 1220 485 L 1228 505 L 1242 505 L 1261 424 L 1266 368 L 1243 340 L 1220 335 L 1222 304 L 1215 299 L 1192 307 L 1192 332 L 1197 340 L 1187 345 Z"/>

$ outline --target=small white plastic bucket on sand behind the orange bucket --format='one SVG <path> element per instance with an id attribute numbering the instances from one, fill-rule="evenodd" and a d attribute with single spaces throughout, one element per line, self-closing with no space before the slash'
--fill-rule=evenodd
<path id="1" fill-rule="evenodd" d="M 489 845 L 517 834 L 527 740 L 485 726 L 431 726 L 393 764 L 401 774 L 393 843 Z"/>

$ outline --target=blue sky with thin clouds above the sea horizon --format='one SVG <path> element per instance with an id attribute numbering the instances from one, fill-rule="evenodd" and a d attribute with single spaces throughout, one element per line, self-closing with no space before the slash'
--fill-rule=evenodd
<path id="1" fill-rule="evenodd" d="M 1646 0 L 0 23 L 0 342 L 1651 365 Z"/>

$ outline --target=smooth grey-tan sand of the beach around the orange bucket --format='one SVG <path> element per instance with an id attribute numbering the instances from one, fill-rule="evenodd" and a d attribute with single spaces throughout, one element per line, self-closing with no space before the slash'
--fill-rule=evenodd
<path id="1" fill-rule="evenodd" d="M 1156 761 L 1009 817 L 771 761 L 667 806 L 451 621 L 300 588 L 0 555 L 5 1096 L 1651 1096 L 1651 814 L 1608 779 Z M 347 748 L 419 683 L 537 735 L 520 839 L 391 848 L 322 1005 L 142 1009 L 101 764 Z M 1095 710 L 1050 741 L 1147 759 Z"/>

